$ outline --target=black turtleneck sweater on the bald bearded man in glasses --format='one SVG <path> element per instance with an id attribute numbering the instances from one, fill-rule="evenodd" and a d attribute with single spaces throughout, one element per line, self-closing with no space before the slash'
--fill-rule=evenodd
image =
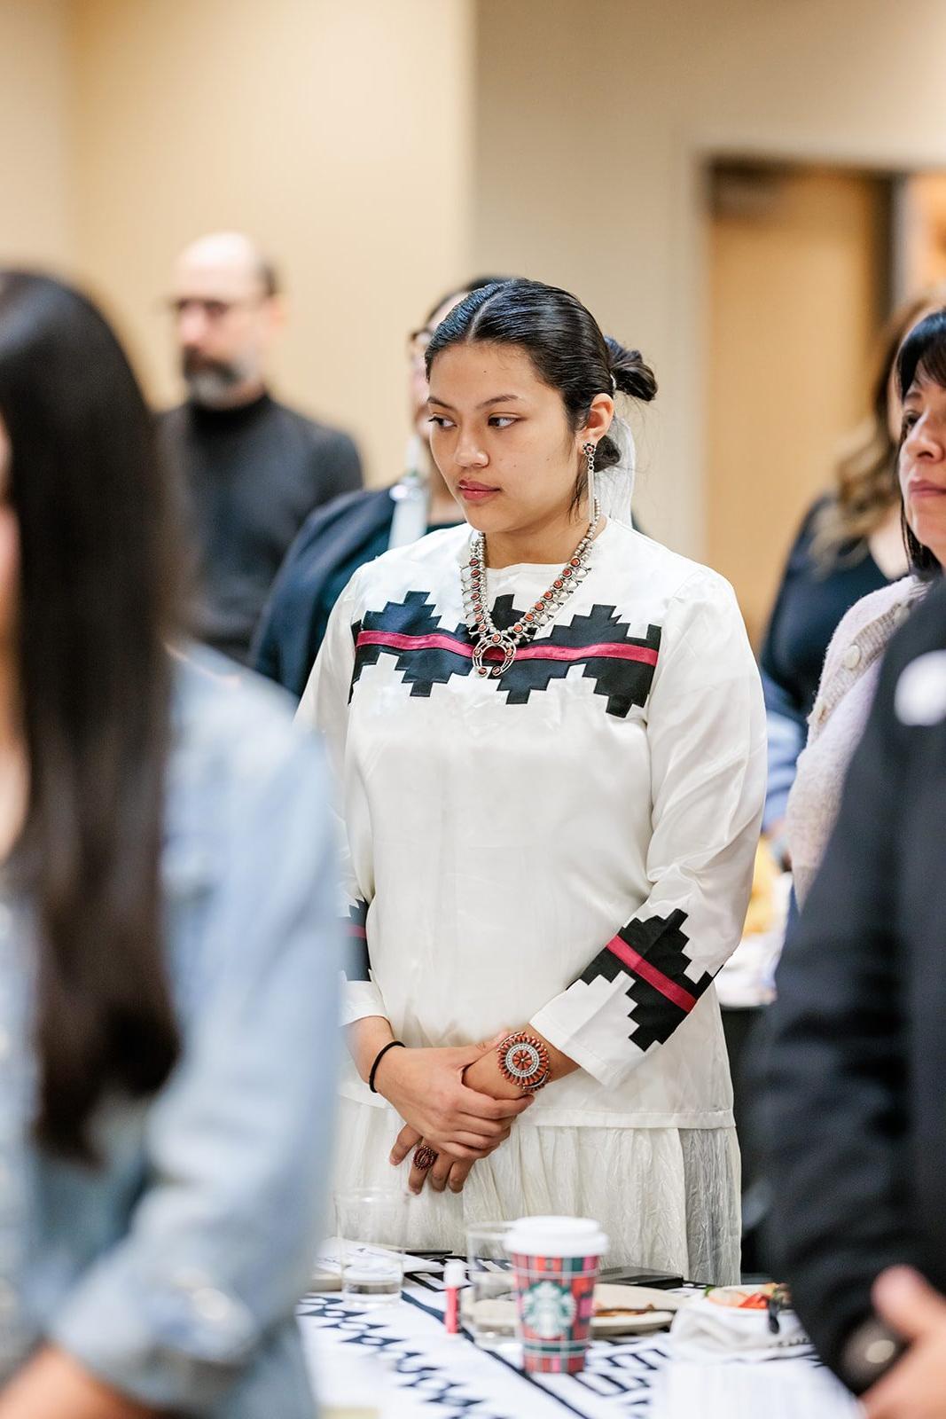
<path id="1" fill-rule="evenodd" d="M 362 484 L 347 434 L 262 394 L 160 416 L 200 570 L 197 634 L 241 663 L 282 558 L 313 508 Z"/>

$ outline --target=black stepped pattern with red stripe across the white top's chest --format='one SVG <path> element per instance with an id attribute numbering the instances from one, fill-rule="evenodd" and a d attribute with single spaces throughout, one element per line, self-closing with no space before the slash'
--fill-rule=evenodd
<path id="1" fill-rule="evenodd" d="M 522 620 L 522 612 L 513 606 L 512 596 L 499 596 L 492 607 L 492 617 L 499 630 Z M 349 698 L 366 666 L 376 666 L 380 656 L 394 656 L 397 670 L 410 685 L 411 695 L 430 697 L 434 685 L 445 685 L 454 675 L 461 678 L 472 674 L 472 660 L 462 653 L 444 647 L 425 646 L 394 648 L 387 646 L 357 646 L 362 630 L 387 631 L 400 636 L 445 636 L 458 646 L 474 646 L 469 630 L 460 626 L 441 626 L 425 592 L 407 592 L 403 602 L 389 602 L 380 612 L 366 612 L 362 622 L 352 627 L 356 643 L 355 670 Z M 547 637 L 532 641 L 533 646 L 563 646 L 581 650 L 584 646 L 640 646 L 655 654 L 661 644 L 660 626 L 648 626 L 645 637 L 630 634 L 630 624 L 617 616 L 614 606 L 594 604 L 589 614 L 573 616 L 572 620 L 556 623 Z M 563 680 L 576 661 L 569 660 L 513 660 L 505 675 L 489 680 L 499 694 L 506 695 L 506 704 L 525 705 L 533 692 L 547 690 L 553 680 Z M 640 660 L 621 660 L 594 656 L 581 664 L 581 677 L 594 681 L 594 694 L 607 698 L 606 710 L 618 718 L 627 718 L 633 705 L 642 707 L 651 691 L 655 666 Z"/>

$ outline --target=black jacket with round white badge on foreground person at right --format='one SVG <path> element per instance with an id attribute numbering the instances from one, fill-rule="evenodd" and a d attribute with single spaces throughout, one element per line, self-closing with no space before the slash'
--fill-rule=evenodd
<path id="1" fill-rule="evenodd" d="M 943 586 L 888 648 L 777 990 L 759 1118 L 773 1260 L 823 1358 L 862 1388 L 878 1273 L 909 1261 L 946 1293 Z"/>

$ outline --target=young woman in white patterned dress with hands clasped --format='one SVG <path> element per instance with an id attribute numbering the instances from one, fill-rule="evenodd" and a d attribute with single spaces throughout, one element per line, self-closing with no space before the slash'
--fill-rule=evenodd
<path id="1" fill-rule="evenodd" d="M 468 525 L 355 575 L 299 711 L 349 853 L 336 1185 L 408 1168 L 416 1247 L 579 1213 L 614 1259 L 733 1281 L 712 979 L 766 772 L 735 596 L 631 531 L 614 397 L 655 380 L 574 297 L 477 291 L 427 368 Z"/>

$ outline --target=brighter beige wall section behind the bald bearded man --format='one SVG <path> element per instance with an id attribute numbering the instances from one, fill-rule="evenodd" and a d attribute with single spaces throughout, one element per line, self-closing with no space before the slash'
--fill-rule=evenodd
<path id="1" fill-rule="evenodd" d="M 468 0 L 74 0 L 78 258 L 159 400 L 160 297 L 208 228 L 289 292 L 278 389 L 401 471 L 406 333 L 468 267 Z"/>

